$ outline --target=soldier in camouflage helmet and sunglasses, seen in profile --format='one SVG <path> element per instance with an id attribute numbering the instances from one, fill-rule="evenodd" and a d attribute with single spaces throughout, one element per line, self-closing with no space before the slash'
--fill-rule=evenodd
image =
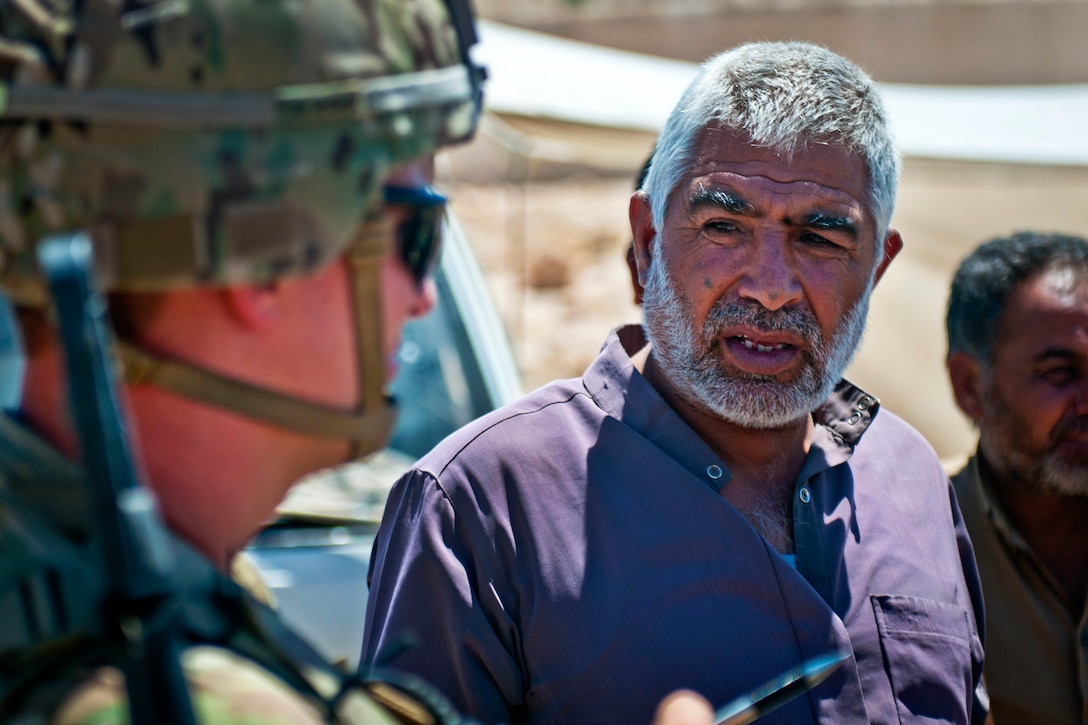
<path id="1" fill-rule="evenodd" d="M 472 41 L 465 0 L 0 3 L 0 340 L 26 351 L 0 415 L 0 721 L 457 720 L 413 681 L 320 662 L 224 574 L 295 480 L 385 440 L 437 236 L 416 224 L 394 254 L 383 187 L 399 165 L 398 213 L 441 204 L 428 160 L 474 131 Z M 91 512 L 102 452 L 66 395 L 54 248 L 92 253 L 132 419 L 121 468 L 165 538 L 121 506 L 139 545 L 111 549 Z"/>

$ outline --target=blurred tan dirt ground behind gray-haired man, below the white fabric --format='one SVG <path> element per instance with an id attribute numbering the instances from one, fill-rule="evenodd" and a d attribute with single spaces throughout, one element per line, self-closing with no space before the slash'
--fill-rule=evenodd
<path id="1" fill-rule="evenodd" d="M 630 174 L 504 183 L 446 180 L 510 335 L 526 390 L 578 376 L 608 330 L 638 322 L 625 263 Z M 974 446 L 943 370 L 959 260 L 1019 229 L 1088 235 L 1088 169 L 907 159 L 894 217 L 906 247 L 874 292 L 848 376 L 951 459 Z"/>

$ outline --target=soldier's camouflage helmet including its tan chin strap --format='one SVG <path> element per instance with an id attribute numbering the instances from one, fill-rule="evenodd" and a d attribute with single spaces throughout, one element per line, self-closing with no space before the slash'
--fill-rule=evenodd
<path id="1" fill-rule="evenodd" d="M 368 212 L 391 165 L 475 128 L 467 2 L 0 0 L 3 292 L 48 303 L 34 253 L 58 232 L 90 237 L 108 291 L 260 283 L 350 250 L 360 335 L 380 340 L 390 235 Z M 124 352 L 131 379 L 183 395 L 329 437 L 367 427 Z"/>

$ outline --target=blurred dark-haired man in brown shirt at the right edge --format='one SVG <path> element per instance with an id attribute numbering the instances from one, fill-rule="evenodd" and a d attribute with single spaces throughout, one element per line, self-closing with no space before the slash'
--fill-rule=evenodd
<path id="1" fill-rule="evenodd" d="M 978 450 L 953 477 L 986 592 L 998 725 L 1088 723 L 1088 241 L 975 249 L 949 298 L 948 371 Z"/>

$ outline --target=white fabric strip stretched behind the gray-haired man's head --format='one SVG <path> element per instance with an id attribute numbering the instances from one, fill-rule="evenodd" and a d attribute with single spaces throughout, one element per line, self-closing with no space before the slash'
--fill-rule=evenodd
<path id="1" fill-rule="evenodd" d="M 480 38 L 498 113 L 657 131 L 697 67 L 489 21 Z M 1088 165 L 1088 85 L 881 88 L 906 156 Z"/>

